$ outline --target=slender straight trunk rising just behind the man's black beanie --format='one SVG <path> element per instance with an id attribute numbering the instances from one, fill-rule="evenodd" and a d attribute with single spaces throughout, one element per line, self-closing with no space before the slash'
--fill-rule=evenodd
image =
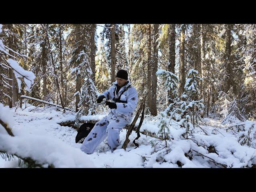
<path id="1" fill-rule="evenodd" d="M 111 82 L 116 81 L 116 40 L 115 40 L 115 25 L 111 24 Z"/>

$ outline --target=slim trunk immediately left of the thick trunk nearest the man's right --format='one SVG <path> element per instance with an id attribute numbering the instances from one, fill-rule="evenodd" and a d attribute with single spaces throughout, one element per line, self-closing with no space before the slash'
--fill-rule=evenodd
<path id="1" fill-rule="evenodd" d="M 152 107 L 152 98 L 151 98 L 151 82 L 152 82 L 152 57 L 151 57 L 151 24 L 148 24 L 148 100 L 147 100 L 147 106 L 149 108 L 149 111 L 151 113 L 151 107 Z"/>

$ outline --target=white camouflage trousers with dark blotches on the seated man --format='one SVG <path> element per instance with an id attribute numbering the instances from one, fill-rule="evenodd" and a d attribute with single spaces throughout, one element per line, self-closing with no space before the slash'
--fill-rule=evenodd
<path id="1" fill-rule="evenodd" d="M 104 117 L 97 122 L 92 131 L 84 139 L 80 149 L 92 154 L 95 148 L 108 136 L 108 146 L 111 152 L 120 145 L 119 134 L 129 122 L 122 117 Z"/>

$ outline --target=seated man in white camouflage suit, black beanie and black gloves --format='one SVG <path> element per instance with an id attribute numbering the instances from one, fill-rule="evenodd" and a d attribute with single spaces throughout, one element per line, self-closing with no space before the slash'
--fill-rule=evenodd
<path id="1" fill-rule="evenodd" d="M 97 122 L 92 131 L 85 138 L 80 149 L 92 154 L 95 148 L 108 136 L 108 146 L 111 152 L 120 145 L 119 134 L 122 128 L 132 122 L 133 112 L 138 103 L 138 94 L 135 87 L 131 86 L 126 70 L 119 70 L 116 74 L 116 82 L 97 99 L 112 99 L 105 104 L 111 109 L 108 116 Z"/>

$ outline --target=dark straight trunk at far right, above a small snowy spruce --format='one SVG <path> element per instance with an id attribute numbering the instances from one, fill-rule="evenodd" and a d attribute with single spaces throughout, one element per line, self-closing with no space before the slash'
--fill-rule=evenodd
<path id="1" fill-rule="evenodd" d="M 226 36 L 226 63 L 227 63 L 227 78 L 226 78 L 226 89 L 227 93 L 231 85 L 231 64 L 230 64 L 230 54 L 231 54 L 231 25 L 227 24 L 227 36 Z"/>

